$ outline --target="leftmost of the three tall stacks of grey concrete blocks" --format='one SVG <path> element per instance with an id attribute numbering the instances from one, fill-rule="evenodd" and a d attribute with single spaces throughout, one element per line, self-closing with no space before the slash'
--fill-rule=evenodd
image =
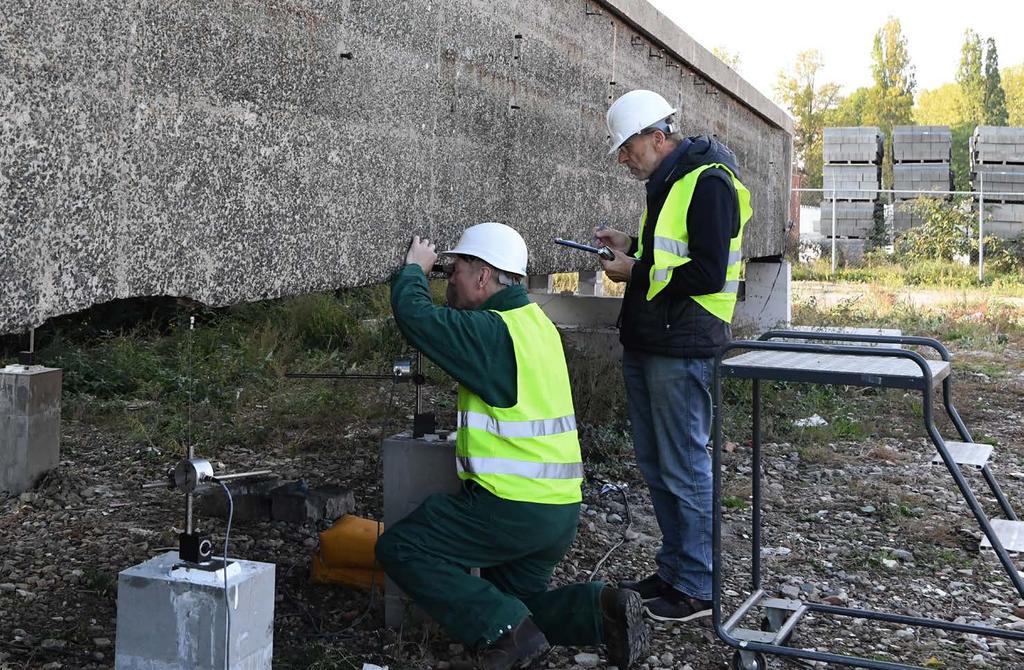
<path id="1" fill-rule="evenodd" d="M 848 262 L 856 262 L 863 254 L 865 240 L 874 229 L 882 150 L 882 133 L 877 127 L 824 130 L 825 164 L 821 172 L 824 199 L 816 232 L 828 239 L 833 237 L 835 211 L 837 245 L 849 247 L 843 253 Z"/>

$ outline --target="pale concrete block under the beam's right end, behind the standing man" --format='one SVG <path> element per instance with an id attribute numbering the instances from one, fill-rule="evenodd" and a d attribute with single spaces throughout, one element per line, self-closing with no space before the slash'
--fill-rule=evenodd
<path id="1" fill-rule="evenodd" d="M 734 330 L 764 332 L 793 320 L 793 268 L 787 261 L 749 261 L 742 299 L 732 316 Z"/>

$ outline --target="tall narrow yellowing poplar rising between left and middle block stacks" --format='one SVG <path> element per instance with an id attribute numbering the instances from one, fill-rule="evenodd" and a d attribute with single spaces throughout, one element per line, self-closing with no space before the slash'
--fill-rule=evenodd
<path id="1" fill-rule="evenodd" d="M 910 52 L 898 18 L 890 16 L 874 34 L 871 76 L 874 79 L 871 88 L 874 117 L 888 146 L 882 170 L 883 185 L 888 189 L 892 186 L 893 126 L 909 124 L 913 120 L 913 88 L 916 83 Z"/>

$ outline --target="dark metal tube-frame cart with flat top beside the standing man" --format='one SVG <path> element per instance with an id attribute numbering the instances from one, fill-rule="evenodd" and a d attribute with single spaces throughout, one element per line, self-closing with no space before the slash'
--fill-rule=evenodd
<path id="1" fill-rule="evenodd" d="M 773 341 L 773 340 L 799 341 Z M 812 343 L 818 341 L 819 343 Z M 845 342 L 844 344 L 823 344 Z M 850 344 L 853 343 L 853 344 Z M 929 347 L 938 352 L 941 361 L 926 360 L 916 351 L 896 347 L 856 346 L 856 343 L 895 344 Z M 736 349 L 748 352 L 730 359 L 725 355 Z M 751 595 L 739 608 L 723 621 L 722 613 L 722 378 L 750 379 L 753 386 L 753 463 L 752 463 L 752 563 Z M 713 569 L 713 621 L 715 632 L 729 646 L 736 651 L 732 659 L 735 670 L 765 670 L 767 654 L 821 661 L 840 665 L 857 666 L 878 670 L 905 670 L 919 668 L 900 663 L 878 661 L 854 656 L 846 656 L 811 650 L 786 646 L 797 624 L 808 613 L 820 613 L 838 617 L 854 617 L 871 621 L 895 623 L 904 626 L 921 626 L 952 632 L 975 633 L 1024 641 L 1024 632 L 1001 630 L 986 626 L 956 624 L 937 619 L 909 617 L 904 615 L 840 608 L 823 603 L 804 602 L 770 597 L 762 586 L 761 575 L 761 381 L 794 381 L 817 384 L 877 386 L 920 390 L 924 403 L 924 424 L 929 437 L 938 452 L 938 459 L 948 469 L 961 494 L 967 501 L 991 543 L 1017 592 L 1024 598 L 1024 580 L 1017 572 L 992 524 L 982 509 L 974 493 L 961 471 L 961 464 L 954 458 L 949 446 L 939 434 L 933 414 L 933 393 L 937 383 L 942 382 L 942 404 L 952 420 L 959 437 L 973 447 L 971 434 L 953 407 L 950 388 L 950 355 L 941 342 L 926 337 L 854 335 L 845 333 L 824 333 L 806 331 L 770 331 L 758 340 L 741 340 L 724 346 L 715 360 L 714 376 L 714 525 L 713 542 L 716 560 Z M 985 483 L 995 497 L 1007 519 L 1017 520 L 1017 515 L 992 476 L 987 463 L 980 467 Z M 763 609 L 761 630 L 738 627 L 742 619 L 755 608 Z"/>

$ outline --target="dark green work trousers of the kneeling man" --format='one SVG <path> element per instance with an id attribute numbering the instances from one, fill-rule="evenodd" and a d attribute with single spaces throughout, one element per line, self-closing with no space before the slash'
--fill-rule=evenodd
<path id="1" fill-rule="evenodd" d="M 467 481 L 460 493 L 435 494 L 386 529 L 377 541 L 377 559 L 464 644 L 492 644 L 527 616 L 552 644 L 600 644 L 604 584 L 548 590 L 579 518 L 579 503 L 505 500 Z M 470 575 L 471 568 L 479 568 L 480 577 Z"/>

